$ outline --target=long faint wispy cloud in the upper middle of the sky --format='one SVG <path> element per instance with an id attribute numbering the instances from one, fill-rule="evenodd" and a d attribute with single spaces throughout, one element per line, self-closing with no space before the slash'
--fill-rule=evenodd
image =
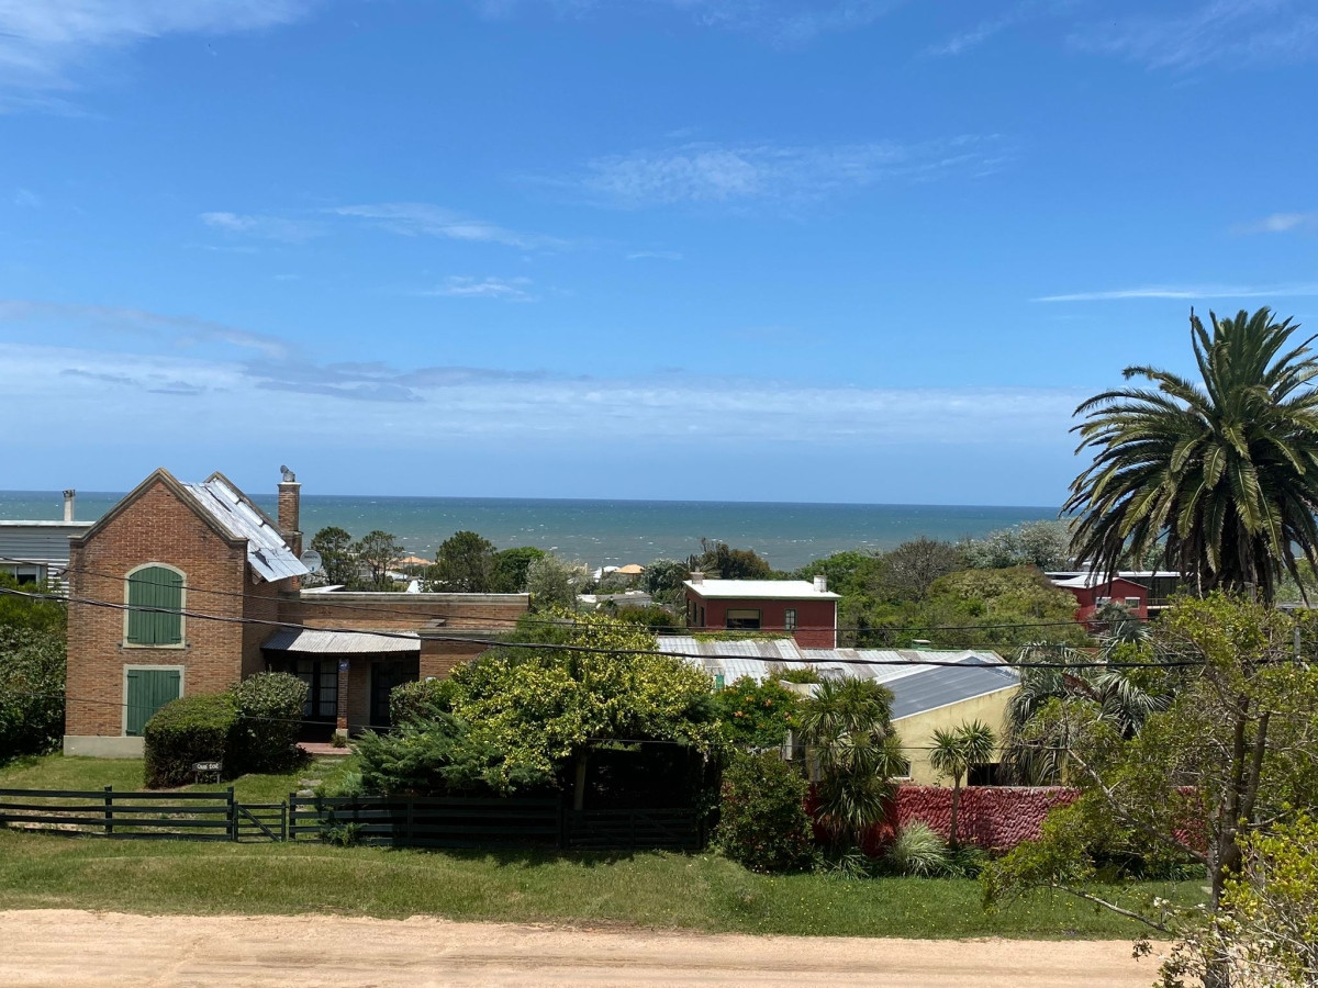
<path id="1" fill-rule="evenodd" d="M 982 174 L 1006 151 L 996 137 L 854 145 L 685 144 L 596 158 L 550 184 L 621 207 L 754 200 L 811 202 L 892 179 Z"/>

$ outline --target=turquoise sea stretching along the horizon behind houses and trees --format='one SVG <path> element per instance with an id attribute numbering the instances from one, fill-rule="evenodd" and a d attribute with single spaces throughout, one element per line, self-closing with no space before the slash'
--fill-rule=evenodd
<path id="1" fill-rule="evenodd" d="M 78 519 L 100 518 L 120 494 L 78 493 Z M 272 515 L 274 497 L 256 497 Z M 59 491 L 0 491 L 0 519 L 62 518 Z M 841 549 L 891 548 L 921 535 L 979 537 L 1020 522 L 1056 518 L 1052 507 L 946 505 L 780 505 L 713 501 L 556 501 L 538 498 L 411 498 L 306 494 L 302 528 L 324 526 L 361 536 L 393 532 L 409 552 L 431 557 L 463 528 L 500 548 L 536 545 L 590 565 L 685 559 L 700 539 L 751 548 L 779 569 Z"/>

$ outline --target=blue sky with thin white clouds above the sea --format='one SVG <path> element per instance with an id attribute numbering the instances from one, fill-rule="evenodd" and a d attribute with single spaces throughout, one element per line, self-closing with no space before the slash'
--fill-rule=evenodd
<path id="1" fill-rule="evenodd" d="M 1060 503 L 1318 324 L 1304 0 L 0 0 L 0 487 Z"/>

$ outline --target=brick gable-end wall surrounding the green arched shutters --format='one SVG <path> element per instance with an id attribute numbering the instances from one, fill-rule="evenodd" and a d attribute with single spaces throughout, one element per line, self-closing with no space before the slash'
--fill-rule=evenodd
<path id="1" fill-rule="evenodd" d="M 220 536 L 159 480 L 99 532 L 71 541 L 71 595 L 121 603 L 128 572 L 148 563 L 183 570 L 185 610 L 243 617 L 243 598 L 203 590 L 245 589 L 245 543 Z M 123 734 L 125 665 L 182 665 L 187 694 L 220 692 L 243 672 L 243 624 L 185 618 L 182 648 L 134 648 L 124 644 L 124 614 L 79 603 L 69 607 L 65 730 L 70 735 Z"/>

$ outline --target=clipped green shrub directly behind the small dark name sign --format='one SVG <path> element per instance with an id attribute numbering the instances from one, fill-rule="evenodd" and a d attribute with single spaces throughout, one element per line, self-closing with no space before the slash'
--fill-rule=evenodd
<path id="1" fill-rule="evenodd" d="M 229 693 L 198 693 L 179 697 L 146 722 L 146 788 L 162 789 L 192 781 L 198 761 L 220 761 L 232 779 L 229 757 L 237 732 L 239 707 Z"/>

